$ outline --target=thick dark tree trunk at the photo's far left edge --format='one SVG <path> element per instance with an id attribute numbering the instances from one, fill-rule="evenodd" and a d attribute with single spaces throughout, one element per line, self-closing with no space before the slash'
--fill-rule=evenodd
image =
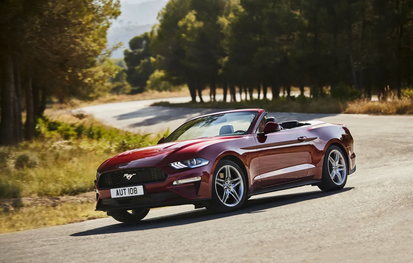
<path id="1" fill-rule="evenodd" d="M 13 61 L 10 55 L 5 56 L 5 75 L 1 89 L 1 117 L 0 117 L 0 144 L 13 144 L 16 138 L 14 127 L 14 74 Z"/>

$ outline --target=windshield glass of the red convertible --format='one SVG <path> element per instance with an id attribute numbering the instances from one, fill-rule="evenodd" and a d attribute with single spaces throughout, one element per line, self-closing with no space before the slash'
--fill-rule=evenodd
<path id="1" fill-rule="evenodd" d="M 256 111 L 242 111 L 199 117 L 185 122 L 173 131 L 165 142 L 246 134 L 256 115 Z"/>

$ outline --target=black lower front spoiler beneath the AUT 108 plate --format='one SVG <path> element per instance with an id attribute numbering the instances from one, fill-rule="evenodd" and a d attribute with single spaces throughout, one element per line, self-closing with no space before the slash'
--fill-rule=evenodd
<path id="1" fill-rule="evenodd" d="M 197 207 L 205 207 L 210 199 L 188 200 L 175 193 L 157 193 L 152 195 L 138 195 L 132 197 L 99 199 L 95 211 L 125 211 L 134 209 L 147 209 L 157 207 L 169 207 L 183 204 L 196 204 Z"/>

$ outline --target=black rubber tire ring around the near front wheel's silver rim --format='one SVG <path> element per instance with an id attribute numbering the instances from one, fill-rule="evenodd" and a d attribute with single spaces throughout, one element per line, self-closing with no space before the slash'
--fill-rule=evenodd
<path id="1" fill-rule="evenodd" d="M 225 204 L 223 204 L 221 202 L 221 199 L 218 197 L 218 194 L 216 193 L 216 177 L 218 176 L 218 171 L 221 169 L 221 167 L 225 166 L 225 165 L 231 165 L 233 166 L 235 169 L 237 169 L 237 171 L 240 173 L 240 175 L 242 176 L 242 182 L 244 183 L 244 193 L 242 193 L 242 197 L 241 197 L 241 201 L 234 207 L 228 207 Z M 247 181 L 245 178 L 244 173 L 242 172 L 242 169 L 233 161 L 231 160 L 222 160 L 220 162 L 218 162 L 218 164 L 215 167 L 214 170 L 214 175 L 212 178 L 212 202 L 209 205 L 209 207 L 207 207 L 210 210 L 213 210 L 214 212 L 217 213 L 226 213 L 226 212 L 230 212 L 230 211 L 235 211 L 236 209 L 242 207 L 242 204 L 244 204 L 244 201 L 246 200 L 247 197 L 247 193 L 248 193 L 248 188 L 247 188 Z"/>

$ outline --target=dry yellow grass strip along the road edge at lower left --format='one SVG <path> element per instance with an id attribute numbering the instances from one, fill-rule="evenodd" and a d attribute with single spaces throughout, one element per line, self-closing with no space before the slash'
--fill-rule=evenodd
<path id="1" fill-rule="evenodd" d="M 107 217 L 95 211 L 95 202 L 69 202 L 56 206 L 29 206 L 0 211 L 0 233 L 14 232 L 51 225 L 63 225 Z"/>

